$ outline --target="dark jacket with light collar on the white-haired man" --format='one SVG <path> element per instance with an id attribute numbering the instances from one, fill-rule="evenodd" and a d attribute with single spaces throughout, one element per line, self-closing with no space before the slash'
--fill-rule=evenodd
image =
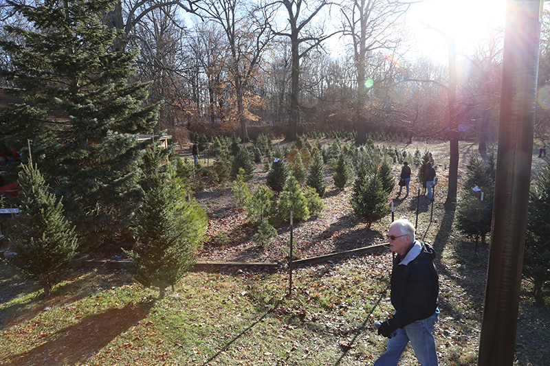
<path id="1" fill-rule="evenodd" d="M 391 273 L 391 304 L 395 314 L 388 320 L 390 331 L 431 317 L 437 309 L 439 275 L 430 244 L 415 240 L 408 252 L 396 255 Z"/>

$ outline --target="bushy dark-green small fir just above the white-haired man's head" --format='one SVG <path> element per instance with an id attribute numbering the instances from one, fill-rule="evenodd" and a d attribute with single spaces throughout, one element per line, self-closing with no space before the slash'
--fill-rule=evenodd
<path id="1" fill-rule="evenodd" d="M 361 185 L 355 185 L 351 196 L 353 214 L 366 221 L 367 229 L 373 222 L 380 220 L 391 212 L 388 205 L 388 194 L 382 187 L 378 174 L 369 174 L 361 179 Z"/>

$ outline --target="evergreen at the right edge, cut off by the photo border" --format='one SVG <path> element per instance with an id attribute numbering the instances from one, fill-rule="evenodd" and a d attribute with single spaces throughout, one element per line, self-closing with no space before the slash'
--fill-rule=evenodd
<path id="1" fill-rule="evenodd" d="M 533 284 L 533 297 L 544 304 L 543 288 L 550 281 L 550 163 L 542 167 L 529 192 L 523 276 Z"/>

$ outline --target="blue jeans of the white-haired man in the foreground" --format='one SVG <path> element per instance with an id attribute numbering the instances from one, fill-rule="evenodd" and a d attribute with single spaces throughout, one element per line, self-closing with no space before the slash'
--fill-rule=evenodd
<path id="1" fill-rule="evenodd" d="M 386 352 L 377 359 L 374 366 L 397 366 L 399 358 L 409 342 L 422 366 L 437 366 L 437 352 L 432 332 L 438 314 L 439 309 L 435 310 L 429 318 L 417 320 L 405 328 L 397 329 L 397 336 L 388 339 Z"/>

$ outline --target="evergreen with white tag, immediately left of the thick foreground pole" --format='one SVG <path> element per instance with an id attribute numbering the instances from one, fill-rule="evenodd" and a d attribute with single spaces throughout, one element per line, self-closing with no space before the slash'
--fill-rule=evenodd
<path id="1" fill-rule="evenodd" d="M 461 199 L 456 207 L 456 228 L 465 236 L 475 237 L 476 240 L 481 236 L 483 242 L 491 231 L 495 172 L 494 156 L 489 156 L 487 164 L 483 164 L 479 157 L 470 157 L 466 165 Z M 481 191 L 475 192 L 474 187 Z"/>

